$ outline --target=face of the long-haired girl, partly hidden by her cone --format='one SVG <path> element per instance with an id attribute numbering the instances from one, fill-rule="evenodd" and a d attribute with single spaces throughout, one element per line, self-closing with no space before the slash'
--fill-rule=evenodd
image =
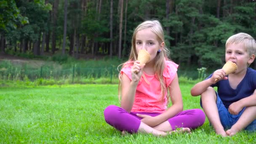
<path id="1" fill-rule="evenodd" d="M 149 28 L 139 30 L 135 36 L 135 47 L 137 53 L 139 50 L 145 49 L 150 54 L 149 62 L 155 59 L 157 51 L 159 49 L 162 51 L 163 46 L 164 42 L 159 43 L 157 35 Z"/>

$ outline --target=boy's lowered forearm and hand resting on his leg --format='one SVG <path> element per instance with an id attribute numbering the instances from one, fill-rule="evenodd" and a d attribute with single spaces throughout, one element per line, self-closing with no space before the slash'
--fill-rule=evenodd
<path id="1" fill-rule="evenodd" d="M 256 106 L 256 90 L 254 90 L 251 96 L 240 99 L 229 105 L 229 113 L 237 115 L 244 107 Z"/>

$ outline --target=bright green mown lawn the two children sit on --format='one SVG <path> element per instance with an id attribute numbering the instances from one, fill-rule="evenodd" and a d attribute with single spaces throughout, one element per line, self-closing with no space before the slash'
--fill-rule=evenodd
<path id="1" fill-rule="evenodd" d="M 200 108 L 190 96 L 192 83 L 181 83 L 184 109 Z M 0 88 L 0 143 L 253 143 L 255 133 L 217 136 L 208 120 L 191 134 L 122 136 L 104 120 L 103 111 L 119 105 L 117 85 L 51 85 Z"/>

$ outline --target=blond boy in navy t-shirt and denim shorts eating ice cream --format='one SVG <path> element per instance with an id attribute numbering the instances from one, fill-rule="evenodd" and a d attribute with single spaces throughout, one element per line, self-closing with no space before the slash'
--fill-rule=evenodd
<path id="1" fill-rule="evenodd" d="M 225 60 L 237 64 L 237 70 L 226 76 L 223 69 L 218 69 L 191 89 L 192 96 L 201 95 L 201 107 L 216 134 L 233 136 L 242 129 L 256 131 L 256 70 L 248 68 L 255 53 L 253 37 L 232 35 L 226 42 Z"/>

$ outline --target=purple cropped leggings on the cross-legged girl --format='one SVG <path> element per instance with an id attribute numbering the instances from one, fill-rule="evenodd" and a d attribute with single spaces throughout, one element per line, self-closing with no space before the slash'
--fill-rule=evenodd
<path id="1" fill-rule="evenodd" d="M 104 117 L 109 125 L 112 125 L 119 131 L 127 131 L 129 133 L 136 133 L 141 124 L 141 117 L 136 114 L 150 115 L 155 117 L 160 113 L 149 112 L 131 112 L 128 113 L 124 109 L 115 105 L 110 105 L 104 110 Z M 179 112 L 174 117 L 168 119 L 171 128 L 192 128 L 195 129 L 205 122 L 205 114 L 201 109 L 189 109 Z"/>

